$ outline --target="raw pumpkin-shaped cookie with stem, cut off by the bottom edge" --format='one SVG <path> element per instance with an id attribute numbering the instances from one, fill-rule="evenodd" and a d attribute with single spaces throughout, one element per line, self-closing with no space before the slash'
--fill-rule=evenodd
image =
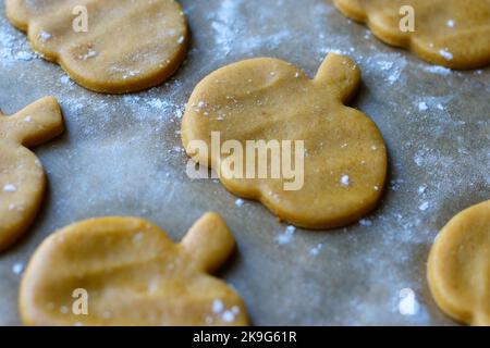
<path id="1" fill-rule="evenodd" d="M 180 244 L 137 217 L 75 223 L 36 250 L 21 284 L 27 325 L 247 325 L 245 304 L 210 276 L 230 257 L 234 238 L 215 213 Z M 76 297 L 86 291 L 87 313 Z M 75 296 L 74 296 L 75 295 Z"/>

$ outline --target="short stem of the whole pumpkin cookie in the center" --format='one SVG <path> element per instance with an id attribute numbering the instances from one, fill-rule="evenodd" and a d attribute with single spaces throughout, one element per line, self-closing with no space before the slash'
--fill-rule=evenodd
<path id="1" fill-rule="evenodd" d="M 360 70 L 347 57 L 330 53 L 318 70 L 315 84 L 328 86 L 334 97 L 347 102 L 360 84 Z"/>

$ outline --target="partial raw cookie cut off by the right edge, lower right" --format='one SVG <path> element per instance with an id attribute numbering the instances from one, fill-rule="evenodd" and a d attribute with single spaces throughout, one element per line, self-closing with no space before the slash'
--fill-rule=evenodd
<path id="1" fill-rule="evenodd" d="M 490 326 L 490 200 L 466 209 L 442 228 L 430 251 L 428 281 L 446 314 Z"/>

